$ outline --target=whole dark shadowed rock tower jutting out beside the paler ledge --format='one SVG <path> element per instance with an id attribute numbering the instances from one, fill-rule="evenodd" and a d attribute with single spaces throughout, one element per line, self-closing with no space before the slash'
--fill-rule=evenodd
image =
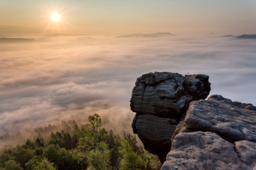
<path id="1" fill-rule="evenodd" d="M 139 77 L 132 91 L 130 107 L 136 112 L 133 132 L 146 150 L 161 161 L 170 151 L 171 136 L 193 100 L 205 99 L 210 93 L 207 75 L 155 72 Z"/>

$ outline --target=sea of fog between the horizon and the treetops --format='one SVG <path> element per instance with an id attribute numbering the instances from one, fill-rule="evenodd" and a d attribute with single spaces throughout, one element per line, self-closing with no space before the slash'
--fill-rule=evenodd
<path id="1" fill-rule="evenodd" d="M 98 113 L 131 131 L 130 96 L 148 72 L 210 76 L 211 93 L 256 104 L 256 40 L 235 37 L 30 37 L 0 42 L 0 136 Z"/>

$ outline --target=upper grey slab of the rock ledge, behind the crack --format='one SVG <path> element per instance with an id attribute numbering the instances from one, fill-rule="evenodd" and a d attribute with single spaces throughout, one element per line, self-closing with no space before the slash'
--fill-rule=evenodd
<path id="1" fill-rule="evenodd" d="M 210 96 L 208 101 L 193 101 L 180 133 L 186 131 L 211 131 L 231 142 L 256 142 L 256 107 L 219 95 Z"/>

